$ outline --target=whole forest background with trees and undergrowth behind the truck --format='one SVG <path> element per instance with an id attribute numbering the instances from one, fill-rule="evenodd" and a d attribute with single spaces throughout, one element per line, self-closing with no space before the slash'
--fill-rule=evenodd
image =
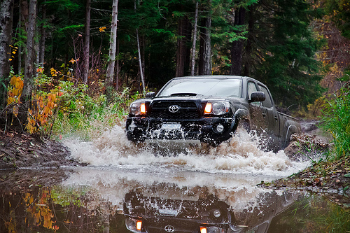
<path id="1" fill-rule="evenodd" d="M 88 139 L 175 76 L 228 74 L 345 124 L 350 153 L 349 0 L 1 0 L 0 28 L 4 132 Z"/>

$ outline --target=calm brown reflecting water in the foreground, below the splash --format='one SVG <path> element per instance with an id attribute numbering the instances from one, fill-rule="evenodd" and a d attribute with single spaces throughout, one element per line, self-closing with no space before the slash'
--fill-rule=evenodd
<path id="1" fill-rule="evenodd" d="M 126 224 L 136 221 L 142 228 L 134 232 L 350 230 L 349 210 L 307 192 L 255 185 L 268 176 L 111 167 L 0 176 L 0 232 L 130 232 Z"/>

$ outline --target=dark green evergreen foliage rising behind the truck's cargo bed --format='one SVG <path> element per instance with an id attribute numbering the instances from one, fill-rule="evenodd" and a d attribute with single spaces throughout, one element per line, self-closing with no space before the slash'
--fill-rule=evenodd
<path id="1" fill-rule="evenodd" d="M 321 41 L 309 27 L 319 12 L 303 0 L 272 1 L 268 6 L 260 1 L 252 11 L 250 33 L 258 41 L 253 43 L 255 52 L 246 58 L 251 76 L 269 86 L 279 100 L 276 104 L 312 103 L 324 91 L 319 85 L 320 64 L 314 59 Z"/>

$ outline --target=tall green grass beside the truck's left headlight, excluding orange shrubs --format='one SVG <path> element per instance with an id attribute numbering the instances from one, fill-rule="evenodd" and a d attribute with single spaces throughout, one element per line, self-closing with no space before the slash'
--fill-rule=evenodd
<path id="1" fill-rule="evenodd" d="M 89 141 L 106 129 L 123 125 L 130 104 L 141 97 L 138 93 L 131 95 L 129 89 L 125 88 L 123 92 L 116 92 L 109 103 L 104 94 L 92 97 L 81 88 L 74 92 L 67 94 L 59 106 L 53 127 L 55 139 L 75 136 Z"/>

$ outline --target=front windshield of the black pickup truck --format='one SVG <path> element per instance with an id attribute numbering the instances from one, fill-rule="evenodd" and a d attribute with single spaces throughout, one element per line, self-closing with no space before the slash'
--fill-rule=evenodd
<path id="1" fill-rule="evenodd" d="M 241 80 L 235 78 L 183 78 L 174 79 L 158 97 L 197 96 L 206 97 L 240 97 Z"/>

